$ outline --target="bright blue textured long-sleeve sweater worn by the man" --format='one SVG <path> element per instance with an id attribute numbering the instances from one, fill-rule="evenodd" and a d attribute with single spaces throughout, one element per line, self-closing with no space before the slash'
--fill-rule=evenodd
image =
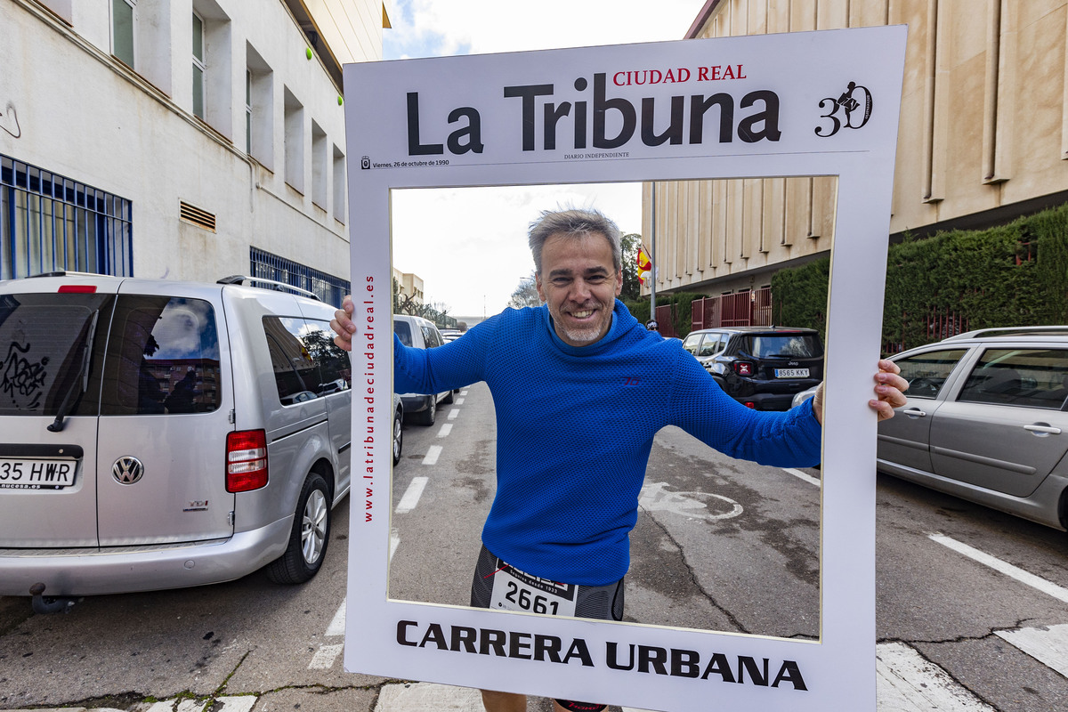
<path id="1" fill-rule="evenodd" d="M 543 305 L 505 310 L 438 348 L 395 337 L 393 348 L 397 393 L 489 385 L 497 495 L 483 543 L 544 579 L 601 586 L 626 574 L 653 438 L 666 425 L 761 464 L 820 459 L 811 401 L 782 413 L 745 408 L 619 301 L 608 334 L 590 346 L 562 342 Z"/>

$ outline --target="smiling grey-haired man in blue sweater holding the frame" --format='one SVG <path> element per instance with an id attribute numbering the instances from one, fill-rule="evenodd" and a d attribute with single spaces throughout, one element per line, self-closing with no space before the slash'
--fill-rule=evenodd
<path id="1" fill-rule="evenodd" d="M 506 310 L 436 349 L 394 338 L 394 390 L 441 393 L 486 381 L 497 411 L 497 494 L 483 527 L 471 605 L 623 619 L 629 534 L 657 431 L 675 425 L 731 457 L 797 468 L 819 462 L 822 389 L 787 412 L 750 410 L 720 390 L 677 339 L 616 300 L 621 234 L 596 210 L 546 211 L 531 225 L 539 307 Z M 331 322 L 351 349 L 346 298 Z M 908 383 L 880 361 L 882 420 Z M 525 697 L 483 692 L 489 712 Z M 604 706 L 556 700 L 556 710 Z"/>

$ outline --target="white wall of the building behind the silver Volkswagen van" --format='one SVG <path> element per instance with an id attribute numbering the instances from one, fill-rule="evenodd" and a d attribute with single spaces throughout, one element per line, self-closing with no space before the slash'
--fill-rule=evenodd
<path id="1" fill-rule="evenodd" d="M 191 113 L 194 3 L 216 26 L 206 122 Z M 0 121 L 17 115 L 20 129 L 0 131 L 0 154 L 130 200 L 137 276 L 247 274 L 254 246 L 348 279 L 347 211 L 333 205 L 346 194 L 333 186 L 333 153 L 345 153 L 344 109 L 319 57 L 307 58 L 307 38 L 284 2 L 139 4 L 132 70 L 111 56 L 110 0 L 0 0 Z M 363 59 L 380 57 L 380 27 L 377 38 Z M 249 46 L 270 67 L 267 164 L 246 153 Z M 285 89 L 303 106 L 303 192 L 284 179 Z M 327 142 L 321 206 L 312 200 L 313 121 Z M 180 221 L 182 201 L 214 213 L 217 232 Z"/>

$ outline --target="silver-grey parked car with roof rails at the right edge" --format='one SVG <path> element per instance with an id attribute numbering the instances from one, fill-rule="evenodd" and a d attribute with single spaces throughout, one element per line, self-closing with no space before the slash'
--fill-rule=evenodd
<path id="1" fill-rule="evenodd" d="M 881 472 L 1068 528 L 1068 327 L 985 329 L 892 359 L 908 402 L 879 424 Z"/>

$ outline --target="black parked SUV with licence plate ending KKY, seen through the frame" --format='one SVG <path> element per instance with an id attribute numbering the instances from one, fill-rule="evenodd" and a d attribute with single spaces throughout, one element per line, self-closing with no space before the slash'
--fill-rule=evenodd
<path id="1" fill-rule="evenodd" d="M 823 344 L 813 329 L 701 329 L 682 348 L 727 395 L 756 410 L 789 410 L 794 394 L 823 380 Z"/>

